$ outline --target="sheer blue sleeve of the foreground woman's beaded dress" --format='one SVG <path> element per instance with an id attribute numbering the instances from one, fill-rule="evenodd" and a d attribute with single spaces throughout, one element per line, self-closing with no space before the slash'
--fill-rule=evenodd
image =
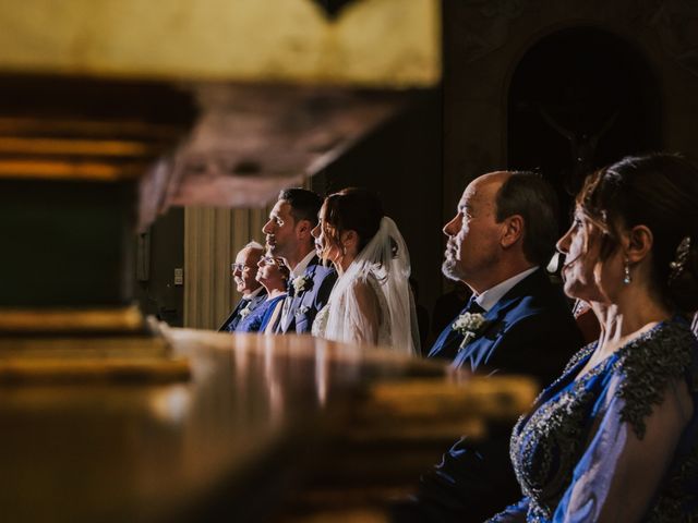
<path id="1" fill-rule="evenodd" d="M 627 421 L 633 404 L 617 393 L 615 376 L 592 413 L 590 441 L 553 515 L 554 522 L 639 521 L 655 498 L 690 418 L 685 382 L 674 380 L 643 418 L 643 430 Z"/>

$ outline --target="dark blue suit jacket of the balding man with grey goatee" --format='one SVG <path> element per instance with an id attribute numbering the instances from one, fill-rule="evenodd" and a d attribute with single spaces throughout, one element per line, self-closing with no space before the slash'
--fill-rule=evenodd
<path id="1" fill-rule="evenodd" d="M 484 318 L 462 349 L 462 335 L 446 327 L 429 356 L 446 357 L 457 368 L 528 374 L 547 385 L 583 343 L 565 295 L 543 269 L 514 285 Z"/>

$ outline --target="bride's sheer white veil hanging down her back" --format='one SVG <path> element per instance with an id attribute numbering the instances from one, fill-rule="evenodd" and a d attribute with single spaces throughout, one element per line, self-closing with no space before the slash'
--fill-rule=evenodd
<path id="1" fill-rule="evenodd" d="M 384 216 L 378 232 L 332 291 L 325 338 L 345 342 L 377 339 L 380 344 L 389 345 L 397 352 L 419 354 L 419 330 L 409 277 L 410 257 L 405 240 L 395 222 Z M 377 311 L 366 307 L 362 300 L 360 289 L 365 290 L 366 285 L 378 294 L 374 296 Z"/>

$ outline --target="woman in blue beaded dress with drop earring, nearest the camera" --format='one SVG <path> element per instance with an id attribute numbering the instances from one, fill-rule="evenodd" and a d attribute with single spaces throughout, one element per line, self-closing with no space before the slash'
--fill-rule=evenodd
<path id="1" fill-rule="evenodd" d="M 591 174 L 559 240 L 602 331 L 512 435 L 524 498 L 493 522 L 698 521 L 698 171 L 671 155 Z"/>

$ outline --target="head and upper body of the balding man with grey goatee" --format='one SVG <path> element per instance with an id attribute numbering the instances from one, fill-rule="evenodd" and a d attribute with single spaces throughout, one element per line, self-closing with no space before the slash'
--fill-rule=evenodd
<path id="1" fill-rule="evenodd" d="M 464 281 L 473 296 L 430 357 L 528 374 L 547 385 L 582 343 L 562 290 L 544 269 L 558 234 L 552 187 L 535 173 L 484 174 L 466 187 L 444 233 L 444 275 Z"/>

